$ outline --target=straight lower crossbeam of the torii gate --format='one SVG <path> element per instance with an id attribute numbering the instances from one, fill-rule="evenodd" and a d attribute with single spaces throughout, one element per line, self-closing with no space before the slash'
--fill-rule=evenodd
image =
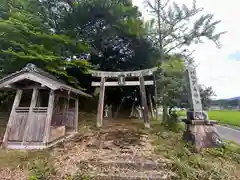
<path id="1" fill-rule="evenodd" d="M 92 82 L 92 86 L 99 87 L 100 82 Z M 153 81 L 144 81 L 145 86 L 154 85 Z M 105 86 L 140 86 L 139 81 L 125 81 L 124 85 L 119 85 L 117 81 L 115 82 L 105 82 Z"/>

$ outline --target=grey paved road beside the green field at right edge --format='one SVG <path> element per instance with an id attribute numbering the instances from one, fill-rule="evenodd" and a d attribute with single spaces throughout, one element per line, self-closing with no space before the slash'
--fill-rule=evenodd
<path id="1" fill-rule="evenodd" d="M 224 140 L 235 141 L 240 144 L 240 130 L 229 127 L 215 125 L 219 135 Z"/>

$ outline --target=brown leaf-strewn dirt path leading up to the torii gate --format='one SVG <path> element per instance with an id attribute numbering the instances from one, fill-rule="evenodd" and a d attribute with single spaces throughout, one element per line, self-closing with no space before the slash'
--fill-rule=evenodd
<path id="1" fill-rule="evenodd" d="M 171 179 L 168 161 L 154 155 L 151 140 L 129 120 L 105 121 L 100 130 L 76 136 L 53 150 L 57 176 L 95 179 Z"/>

